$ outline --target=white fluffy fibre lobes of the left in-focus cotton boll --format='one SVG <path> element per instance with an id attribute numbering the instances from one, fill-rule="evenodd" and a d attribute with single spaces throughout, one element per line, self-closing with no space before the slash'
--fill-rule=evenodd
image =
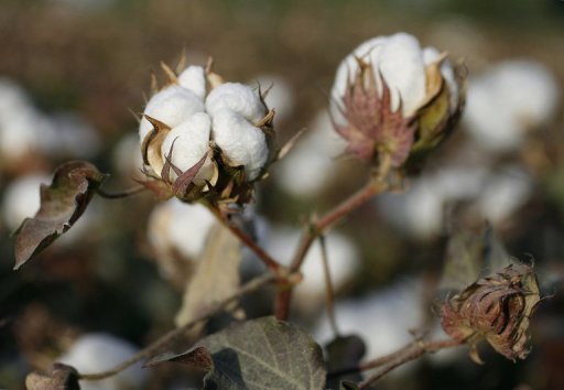
<path id="1" fill-rule="evenodd" d="M 174 142 L 172 163 L 186 171 L 206 155 L 213 141 L 229 165 L 243 166 L 247 180 L 256 180 L 270 155 L 264 132 L 257 127 L 267 107 L 254 90 L 242 84 L 225 83 L 208 91 L 206 77 L 203 67 L 188 66 L 178 75 L 178 84 L 149 100 L 144 113 L 170 129 L 161 144 L 161 158 L 150 159 L 151 167 L 161 174 Z M 152 124 L 143 118 L 141 142 L 151 130 Z M 213 173 L 208 159 L 196 178 L 209 180 Z"/>

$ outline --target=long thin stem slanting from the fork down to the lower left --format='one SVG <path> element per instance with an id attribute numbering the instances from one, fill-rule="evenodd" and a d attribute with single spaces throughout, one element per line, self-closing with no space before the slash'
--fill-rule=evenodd
<path id="1" fill-rule="evenodd" d="M 256 279 L 252 279 L 251 281 L 247 282 L 245 285 L 242 285 L 235 294 L 225 299 L 224 301 L 216 304 L 213 308 L 210 308 L 207 313 L 202 314 L 200 316 L 196 317 L 195 319 L 191 321 L 189 323 L 177 327 L 175 329 L 170 331 L 165 335 L 161 336 L 156 340 L 154 340 L 152 344 L 140 350 L 137 355 L 131 357 L 130 359 L 119 364 L 118 366 L 101 372 L 96 373 L 78 373 L 78 379 L 80 380 L 101 380 L 109 377 L 112 377 L 122 370 L 124 370 L 128 367 L 133 366 L 138 361 L 141 361 L 143 359 L 151 358 L 156 354 L 156 351 L 166 345 L 174 342 L 176 338 L 183 336 L 186 331 L 191 329 L 195 325 L 199 324 L 203 321 L 206 321 L 210 318 L 213 315 L 215 315 L 217 312 L 224 310 L 227 307 L 231 302 L 237 301 L 242 295 L 246 295 L 252 291 L 256 291 L 275 280 L 275 277 L 271 273 L 263 274 L 261 277 L 258 277 Z"/>

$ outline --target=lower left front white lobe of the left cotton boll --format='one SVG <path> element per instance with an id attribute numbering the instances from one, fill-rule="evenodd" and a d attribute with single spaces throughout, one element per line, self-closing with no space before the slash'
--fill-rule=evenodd
<path id="1" fill-rule="evenodd" d="M 209 151 L 209 136 L 212 121 L 205 112 L 197 112 L 186 122 L 173 128 L 164 139 L 161 147 L 162 155 L 169 155 L 172 150 L 172 163 L 183 172 L 193 167 Z M 155 167 L 161 172 L 162 166 Z M 206 160 L 196 175 L 196 180 L 210 180 L 214 167 L 209 159 Z M 173 176 L 174 177 L 174 176 Z"/>

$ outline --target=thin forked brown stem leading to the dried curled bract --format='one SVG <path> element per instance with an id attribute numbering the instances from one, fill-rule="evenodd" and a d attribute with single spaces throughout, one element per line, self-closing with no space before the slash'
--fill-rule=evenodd
<path id="1" fill-rule="evenodd" d="M 424 354 L 436 353 L 441 349 L 452 348 L 464 344 L 464 342 L 454 338 L 437 340 L 437 342 L 423 342 L 414 340 L 406 346 L 393 351 L 389 355 L 382 356 L 375 360 L 370 360 L 364 365 L 346 368 L 343 370 L 329 372 L 329 378 L 343 377 L 348 373 L 366 371 L 369 369 L 381 367 L 375 375 L 370 376 L 358 384 L 359 389 L 366 389 L 381 379 L 383 376 L 392 371 L 394 368 L 406 364 L 408 361 L 415 360 Z"/>

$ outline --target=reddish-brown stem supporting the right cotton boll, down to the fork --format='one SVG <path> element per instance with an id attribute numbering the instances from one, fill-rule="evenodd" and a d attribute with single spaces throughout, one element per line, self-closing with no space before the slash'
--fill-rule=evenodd
<path id="1" fill-rule="evenodd" d="M 384 175 L 380 174 L 377 178 L 370 180 L 370 182 L 360 191 L 352 194 L 350 197 L 340 203 L 333 210 L 327 213 L 323 218 L 313 221 L 307 225 L 306 229 L 302 234 L 302 239 L 300 240 L 300 246 L 292 259 L 292 263 L 290 264 L 290 273 L 296 273 L 300 271 L 302 263 L 305 259 L 305 254 L 310 250 L 313 241 L 322 235 L 327 228 L 333 226 L 334 224 L 341 220 L 352 210 L 357 209 L 368 201 L 370 201 L 375 195 L 381 194 L 388 189 L 388 183 L 384 180 Z M 285 321 L 290 314 L 290 302 L 292 299 L 292 286 L 288 286 L 288 289 L 280 290 L 276 294 L 275 302 L 275 313 L 276 318 Z"/>

